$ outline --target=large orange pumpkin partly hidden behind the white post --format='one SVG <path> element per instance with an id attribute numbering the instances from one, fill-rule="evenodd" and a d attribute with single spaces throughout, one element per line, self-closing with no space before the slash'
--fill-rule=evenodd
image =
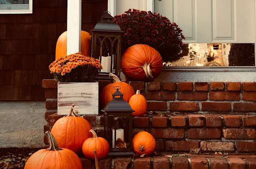
<path id="1" fill-rule="evenodd" d="M 66 56 L 66 39 L 67 31 L 64 31 L 57 40 L 55 60 L 59 57 Z M 81 53 L 84 56 L 90 55 L 90 35 L 85 31 L 81 31 Z"/>

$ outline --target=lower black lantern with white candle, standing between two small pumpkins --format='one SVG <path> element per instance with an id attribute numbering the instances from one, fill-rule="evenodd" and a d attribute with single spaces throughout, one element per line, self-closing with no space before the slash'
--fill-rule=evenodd
<path id="1" fill-rule="evenodd" d="M 123 94 L 119 92 L 120 87 L 115 86 L 116 90 L 104 107 L 104 138 L 109 144 L 109 156 L 132 156 L 132 112 L 128 102 L 123 100 Z M 117 147 L 118 140 L 126 143 L 125 147 Z M 117 142 L 116 142 L 117 141 Z"/>

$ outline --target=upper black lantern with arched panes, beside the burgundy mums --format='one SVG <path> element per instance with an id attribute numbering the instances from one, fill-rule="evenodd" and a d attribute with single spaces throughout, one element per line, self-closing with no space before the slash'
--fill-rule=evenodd
<path id="1" fill-rule="evenodd" d="M 91 57 L 99 59 L 103 69 L 98 79 L 110 79 L 109 73 L 120 78 L 121 31 L 113 17 L 105 11 L 95 27 L 91 30 Z"/>

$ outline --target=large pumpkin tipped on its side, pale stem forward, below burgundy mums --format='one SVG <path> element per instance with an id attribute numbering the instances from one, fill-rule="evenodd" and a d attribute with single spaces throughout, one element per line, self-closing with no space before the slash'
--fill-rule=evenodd
<path id="1" fill-rule="evenodd" d="M 125 50 L 121 59 L 121 69 L 133 81 L 152 81 L 162 70 L 161 55 L 145 44 L 135 44 Z"/>

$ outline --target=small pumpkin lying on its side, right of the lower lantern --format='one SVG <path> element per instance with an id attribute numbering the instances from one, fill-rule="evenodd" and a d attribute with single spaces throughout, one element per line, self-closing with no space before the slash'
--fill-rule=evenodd
<path id="1" fill-rule="evenodd" d="M 150 133 L 139 132 L 132 139 L 133 151 L 135 154 L 150 155 L 155 149 L 155 140 Z"/>

